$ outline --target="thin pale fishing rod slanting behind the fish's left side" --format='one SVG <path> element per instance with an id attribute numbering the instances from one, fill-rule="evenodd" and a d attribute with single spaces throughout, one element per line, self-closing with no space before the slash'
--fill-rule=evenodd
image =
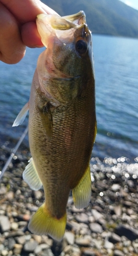
<path id="1" fill-rule="evenodd" d="M 14 150 L 13 150 L 13 152 L 11 153 L 10 157 L 8 158 L 8 160 L 7 160 L 6 164 L 5 164 L 5 166 L 3 167 L 2 172 L 0 172 L 0 173 L 1 173 L 1 175 L 0 175 L 0 180 L 2 179 L 2 177 L 3 177 L 3 175 L 4 175 L 4 173 L 5 173 L 6 169 L 7 169 L 7 167 L 9 166 L 9 164 L 10 164 L 12 158 L 14 157 L 16 151 L 18 150 L 18 147 L 20 146 L 22 140 L 24 140 L 24 138 L 26 137 L 27 133 L 28 133 L 28 126 L 26 127 L 24 133 L 22 133 L 22 135 L 21 135 L 19 141 L 17 142 L 16 146 L 14 147 Z"/>

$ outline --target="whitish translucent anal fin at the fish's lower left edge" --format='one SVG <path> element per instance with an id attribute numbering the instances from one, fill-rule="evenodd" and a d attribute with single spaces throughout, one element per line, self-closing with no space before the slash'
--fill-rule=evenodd
<path id="1" fill-rule="evenodd" d="M 31 189 L 38 190 L 41 188 L 42 182 L 38 176 L 33 158 L 29 160 L 29 164 L 26 166 L 22 177 Z"/>

